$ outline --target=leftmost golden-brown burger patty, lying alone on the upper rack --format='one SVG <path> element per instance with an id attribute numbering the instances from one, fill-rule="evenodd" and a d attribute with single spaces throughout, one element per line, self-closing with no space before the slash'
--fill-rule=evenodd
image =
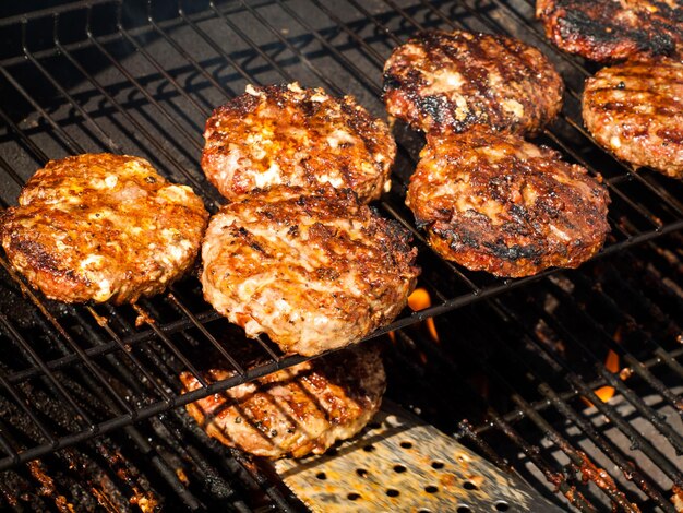
<path id="1" fill-rule="evenodd" d="M 12 265 L 52 299 L 134 302 L 193 263 L 208 213 L 189 187 L 128 155 L 51 160 L 2 216 Z"/>

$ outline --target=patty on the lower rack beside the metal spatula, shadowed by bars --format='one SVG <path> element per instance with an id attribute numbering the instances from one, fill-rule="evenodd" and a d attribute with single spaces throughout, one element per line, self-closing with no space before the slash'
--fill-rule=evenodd
<path id="1" fill-rule="evenodd" d="M 213 383 L 235 375 L 211 369 Z M 183 372 L 187 391 L 200 389 Z M 380 409 L 386 389 L 376 346 L 362 344 L 267 374 L 187 406 L 190 415 L 226 445 L 278 458 L 321 454 L 360 431 Z"/>

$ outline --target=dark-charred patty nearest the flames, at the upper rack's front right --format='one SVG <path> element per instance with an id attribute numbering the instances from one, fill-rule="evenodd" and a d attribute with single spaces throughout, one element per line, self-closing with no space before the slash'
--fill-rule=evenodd
<path id="1" fill-rule="evenodd" d="M 429 134 L 406 204 L 447 260 L 496 276 L 576 267 L 602 247 L 609 196 L 586 169 L 477 126 Z"/>

